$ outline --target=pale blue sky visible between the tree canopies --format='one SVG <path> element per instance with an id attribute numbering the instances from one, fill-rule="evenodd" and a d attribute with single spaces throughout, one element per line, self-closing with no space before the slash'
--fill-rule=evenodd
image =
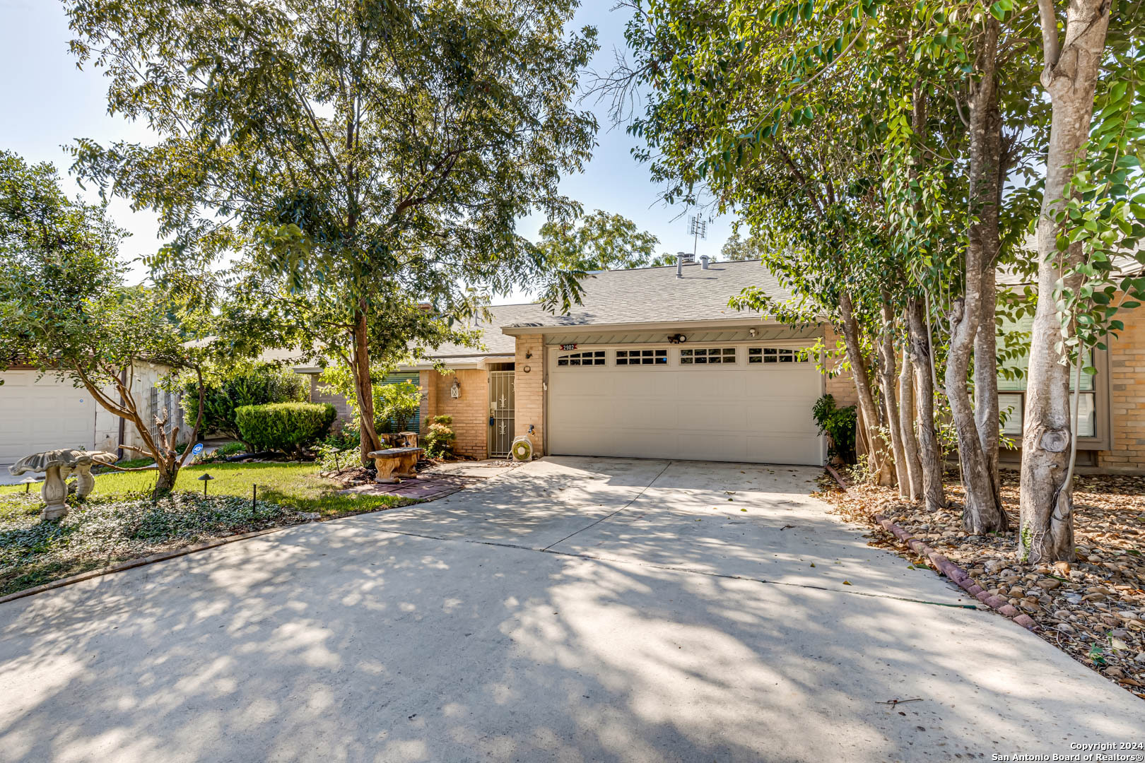
<path id="1" fill-rule="evenodd" d="M 613 0 L 587 0 L 574 24 L 597 26 L 601 43 L 593 69 L 607 70 L 614 48 L 624 48 L 627 10 L 610 11 Z M 79 192 L 66 176 L 70 160 L 63 145 L 78 137 L 98 142 L 131 140 L 148 142 L 144 125 L 110 117 L 104 100 L 105 80 L 94 69 L 79 71 L 68 53 L 68 22 L 62 5 L 55 0 L 0 0 L 0 71 L 6 72 L 0 110 L 0 146 L 30 161 L 52 161 L 65 176 L 69 192 Z M 601 129 L 592 161 L 581 175 L 562 181 L 562 190 L 584 205 L 586 212 L 605 209 L 633 220 L 660 238 L 661 252 L 689 251 L 687 210 L 666 207 L 657 188 L 648 180 L 648 168 L 637 162 L 630 150 L 635 141 L 622 127 L 609 129 L 607 104 L 586 101 L 584 108 L 598 114 Z M 94 200 L 95 194 L 86 193 Z M 132 236 L 123 244 L 126 257 L 134 259 L 159 246 L 155 216 L 147 210 L 132 212 L 124 199 L 111 204 L 112 217 Z M 534 237 L 543 220 L 522 221 L 521 232 Z M 700 241 L 698 254 L 718 254 L 731 235 L 731 218 L 713 220 L 708 240 Z M 141 270 L 136 270 L 142 276 Z M 496 302 L 521 301 L 518 293 Z"/>

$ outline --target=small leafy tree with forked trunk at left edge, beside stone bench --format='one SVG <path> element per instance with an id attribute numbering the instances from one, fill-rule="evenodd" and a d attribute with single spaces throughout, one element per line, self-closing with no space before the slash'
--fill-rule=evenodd
<path id="1" fill-rule="evenodd" d="M 173 412 L 144 420 L 134 373 L 141 361 L 194 373 L 202 396 L 208 350 L 189 347 L 184 332 L 204 318 L 173 310 L 159 289 L 125 286 L 121 236 L 102 206 L 68 199 L 50 165 L 0 153 L 0 367 L 25 363 L 84 387 L 135 427 L 144 446 L 133 450 L 155 460 L 156 487 L 167 491 L 189 450 L 175 450 Z"/>

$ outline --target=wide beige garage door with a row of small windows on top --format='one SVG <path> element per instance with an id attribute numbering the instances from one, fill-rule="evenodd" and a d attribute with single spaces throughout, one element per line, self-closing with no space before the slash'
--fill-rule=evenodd
<path id="1" fill-rule="evenodd" d="M 555 455 L 820 464 L 814 363 L 759 343 L 550 350 Z"/>

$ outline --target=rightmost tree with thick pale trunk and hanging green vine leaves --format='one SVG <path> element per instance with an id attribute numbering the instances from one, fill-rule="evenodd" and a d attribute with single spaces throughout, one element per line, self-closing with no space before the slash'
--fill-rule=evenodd
<path id="1" fill-rule="evenodd" d="M 1111 255 L 1135 252 L 1145 222 L 1143 112 L 1135 108 L 1145 74 L 1139 3 L 1118 3 L 1112 27 L 1115 11 L 1104 0 L 1059 5 L 1037 3 L 1041 84 L 1052 117 L 1036 224 L 1037 307 L 1022 427 L 1019 556 L 1027 562 L 1074 557 L 1071 369 L 1080 375 L 1085 347 L 1101 345 L 1111 329 L 1122 328 L 1113 318 L 1118 302 L 1134 307 L 1126 297 L 1145 292 L 1134 278 L 1122 279 L 1120 289 L 1111 278 Z"/>

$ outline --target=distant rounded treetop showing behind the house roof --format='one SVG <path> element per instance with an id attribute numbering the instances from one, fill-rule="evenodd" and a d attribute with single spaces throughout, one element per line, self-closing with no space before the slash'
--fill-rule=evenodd
<path id="1" fill-rule="evenodd" d="M 545 223 L 538 246 L 552 267 L 576 272 L 647 265 L 657 244 L 627 217 L 598 209 L 575 225 Z"/>

